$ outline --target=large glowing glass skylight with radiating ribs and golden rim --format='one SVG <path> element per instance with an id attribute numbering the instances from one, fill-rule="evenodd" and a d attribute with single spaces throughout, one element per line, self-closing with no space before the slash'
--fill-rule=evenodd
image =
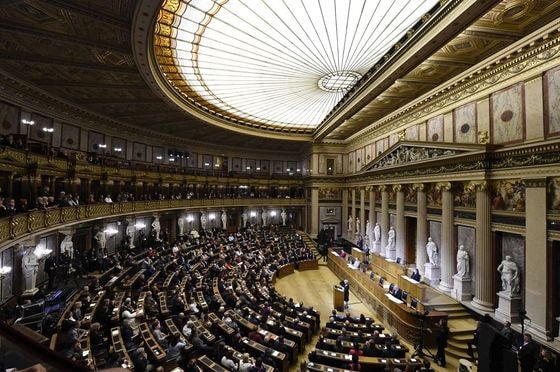
<path id="1" fill-rule="evenodd" d="M 311 133 L 439 0 L 166 0 L 154 55 L 196 109 Z"/>

